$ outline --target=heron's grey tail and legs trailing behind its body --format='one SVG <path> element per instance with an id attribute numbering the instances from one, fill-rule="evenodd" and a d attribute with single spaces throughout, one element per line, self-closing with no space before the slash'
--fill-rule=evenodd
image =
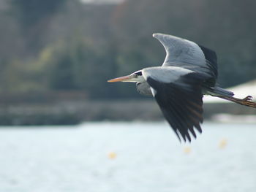
<path id="1" fill-rule="evenodd" d="M 244 99 L 238 99 L 236 97 L 234 97 L 234 93 L 231 91 L 227 91 L 223 88 L 219 88 L 219 87 L 215 87 L 213 89 L 211 89 L 211 91 L 208 91 L 208 93 L 211 96 L 217 96 L 221 99 L 225 99 L 228 101 L 233 101 L 237 104 L 241 104 L 241 105 L 245 105 L 248 107 L 254 107 L 256 108 L 256 103 L 252 102 L 252 96 L 246 96 Z"/>

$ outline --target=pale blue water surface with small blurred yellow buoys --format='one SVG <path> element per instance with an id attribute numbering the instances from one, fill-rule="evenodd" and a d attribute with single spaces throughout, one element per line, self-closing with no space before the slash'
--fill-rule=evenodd
<path id="1" fill-rule="evenodd" d="M 254 192 L 255 137 L 255 124 L 205 123 L 190 145 L 167 123 L 1 128 L 0 191 Z"/>

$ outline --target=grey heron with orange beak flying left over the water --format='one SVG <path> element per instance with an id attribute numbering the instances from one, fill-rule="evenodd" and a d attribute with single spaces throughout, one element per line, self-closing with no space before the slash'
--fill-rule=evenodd
<path id="1" fill-rule="evenodd" d="M 214 50 L 170 34 L 153 34 L 165 47 L 162 66 L 140 69 L 108 82 L 135 82 L 139 93 L 154 96 L 162 114 L 181 142 L 202 133 L 203 95 L 217 96 L 255 107 L 252 96 L 244 99 L 217 85 L 217 54 Z"/>

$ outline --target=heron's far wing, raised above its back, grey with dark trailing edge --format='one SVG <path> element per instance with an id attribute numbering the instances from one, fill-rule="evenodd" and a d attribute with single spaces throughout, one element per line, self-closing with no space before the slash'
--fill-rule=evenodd
<path id="1" fill-rule="evenodd" d="M 217 55 L 213 50 L 168 34 L 153 34 L 153 37 L 165 47 L 166 57 L 162 66 L 180 66 L 203 73 L 215 83 L 218 76 Z"/>

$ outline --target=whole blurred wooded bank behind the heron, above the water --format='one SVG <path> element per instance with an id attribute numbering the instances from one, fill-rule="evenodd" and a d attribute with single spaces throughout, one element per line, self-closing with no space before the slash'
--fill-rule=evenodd
<path id="1" fill-rule="evenodd" d="M 1 125 L 161 119 L 154 100 L 134 84 L 106 82 L 162 64 L 165 50 L 151 37 L 155 32 L 216 50 L 222 88 L 256 77 L 254 1 L 0 2 Z M 218 111 L 206 104 L 205 118 L 255 114 L 225 105 Z"/>

